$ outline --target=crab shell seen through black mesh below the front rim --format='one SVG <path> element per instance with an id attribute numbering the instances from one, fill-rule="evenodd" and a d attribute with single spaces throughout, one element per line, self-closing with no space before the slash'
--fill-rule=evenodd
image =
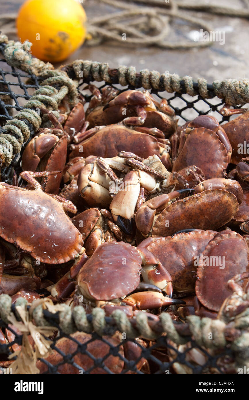
<path id="1" fill-rule="evenodd" d="M 79 368 L 76 368 L 76 366 L 72 365 L 71 363 L 63 361 L 63 356 L 56 350 L 52 350 L 52 352 L 45 359 L 50 364 L 58 366 L 57 371 L 60 374 L 79 374 L 79 370 L 82 370 L 83 373 L 86 370 L 90 370 L 90 374 L 108 374 L 108 372 L 106 372 L 100 366 L 95 366 L 96 364 L 94 363 L 94 359 L 102 359 L 103 365 L 113 374 L 120 374 L 124 367 L 123 346 L 119 346 L 117 356 L 113 356 L 112 354 L 108 355 L 110 353 L 111 346 L 116 348 L 120 344 L 120 340 L 114 336 L 103 336 L 103 339 L 106 342 L 98 339 L 92 340 L 92 335 L 84 332 L 75 332 L 74 334 L 70 335 L 69 338 L 61 338 L 58 340 L 58 342 L 56 342 L 56 348 L 58 348 L 61 352 L 67 356 L 71 354 L 74 355 L 74 364 L 78 365 Z M 88 356 L 87 354 L 82 354 L 78 350 L 78 343 L 76 341 L 81 345 L 85 344 L 87 352 L 89 352 L 92 357 Z M 110 346 L 108 345 L 108 342 L 110 343 Z M 48 366 L 40 360 L 37 361 L 36 366 L 40 369 L 40 373 L 48 370 Z"/>

